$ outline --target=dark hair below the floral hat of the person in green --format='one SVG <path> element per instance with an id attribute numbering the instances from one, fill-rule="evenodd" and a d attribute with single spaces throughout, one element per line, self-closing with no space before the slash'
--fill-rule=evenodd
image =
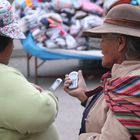
<path id="1" fill-rule="evenodd" d="M 13 39 L 0 35 L 0 52 L 3 52 Z"/>

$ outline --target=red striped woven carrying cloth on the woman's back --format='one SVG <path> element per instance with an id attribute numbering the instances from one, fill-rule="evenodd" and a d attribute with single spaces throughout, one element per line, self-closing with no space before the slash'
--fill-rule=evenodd
<path id="1" fill-rule="evenodd" d="M 140 76 L 104 80 L 109 108 L 128 131 L 140 140 Z"/>

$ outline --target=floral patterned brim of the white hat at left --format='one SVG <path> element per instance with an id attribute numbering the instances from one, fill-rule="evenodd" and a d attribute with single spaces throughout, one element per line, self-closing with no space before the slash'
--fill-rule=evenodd
<path id="1" fill-rule="evenodd" d="M 7 26 L 0 27 L 0 34 L 3 36 L 10 37 L 12 39 L 25 39 L 25 35 L 20 30 L 18 23 L 13 22 Z"/>

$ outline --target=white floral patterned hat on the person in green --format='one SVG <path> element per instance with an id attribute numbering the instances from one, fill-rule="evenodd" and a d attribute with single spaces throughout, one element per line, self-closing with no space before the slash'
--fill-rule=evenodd
<path id="1" fill-rule="evenodd" d="M 25 39 L 17 21 L 14 20 L 12 6 L 7 0 L 0 0 L 0 35 L 13 39 Z"/>

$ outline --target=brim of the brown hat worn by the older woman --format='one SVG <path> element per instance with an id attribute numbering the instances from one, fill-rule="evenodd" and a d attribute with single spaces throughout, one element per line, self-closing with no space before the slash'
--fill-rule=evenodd
<path id="1" fill-rule="evenodd" d="M 140 37 L 140 29 L 118 26 L 118 25 L 108 24 L 108 23 L 103 23 L 100 26 L 83 31 L 83 36 L 101 38 L 101 35 L 106 33 L 118 33 L 118 34 Z"/>

